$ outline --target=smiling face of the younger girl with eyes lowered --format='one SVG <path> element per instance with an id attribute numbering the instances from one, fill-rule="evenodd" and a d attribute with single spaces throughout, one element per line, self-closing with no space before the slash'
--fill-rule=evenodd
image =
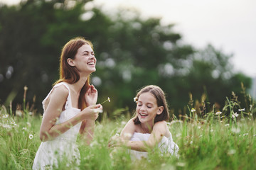
<path id="1" fill-rule="evenodd" d="M 157 114 L 161 114 L 163 106 L 157 106 L 156 98 L 149 92 L 143 93 L 139 96 L 137 102 L 137 116 L 141 123 L 154 123 L 154 118 Z"/>

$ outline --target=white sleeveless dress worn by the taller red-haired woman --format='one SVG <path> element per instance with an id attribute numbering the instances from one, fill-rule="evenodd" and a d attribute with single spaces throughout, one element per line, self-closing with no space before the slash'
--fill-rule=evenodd
<path id="1" fill-rule="evenodd" d="M 76 114 L 80 112 L 80 109 L 73 108 L 70 96 L 70 89 L 68 84 L 61 82 L 53 86 L 53 89 L 57 86 L 64 85 L 68 91 L 68 98 L 65 103 L 65 111 L 60 113 L 60 118 L 58 118 L 55 124 L 63 123 L 70 118 L 73 118 Z M 50 91 L 50 93 L 53 91 Z M 46 111 L 45 102 L 50 96 L 50 93 L 43 100 L 43 111 Z M 69 164 L 80 164 L 80 152 L 78 150 L 78 145 L 76 145 L 76 139 L 78 132 L 80 130 L 81 123 L 73 126 L 68 131 L 55 137 L 55 139 L 41 142 L 38 151 L 36 152 L 36 157 L 33 162 L 33 169 L 51 169 L 53 166 L 58 167 L 58 162 L 65 162 L 66 166 Z"/>

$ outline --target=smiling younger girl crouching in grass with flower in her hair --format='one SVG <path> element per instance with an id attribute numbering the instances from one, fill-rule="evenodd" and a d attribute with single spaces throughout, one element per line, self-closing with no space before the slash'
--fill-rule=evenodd
<path id="1" fill-rule="evenodd" d="M 125 125 L 120 136 L 121 142 L 115 146 L 130 147 L 130 153 L 137 159 L 147 157 L 147 151 L 155 146 L 159 147 L 161 153 L 169 152 L 177 156 L 178 145 L 173 141 L 166 124 L 169 110 L 164 91 L 159 86 L 145 86 L 134 101 L 137 103 L 136 114 Z"/>

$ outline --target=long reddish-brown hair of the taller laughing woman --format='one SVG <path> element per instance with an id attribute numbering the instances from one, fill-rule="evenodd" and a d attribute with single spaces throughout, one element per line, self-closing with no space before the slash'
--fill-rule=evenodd
<path id="1" fill-rule="evenodd" d="M 58 84 L 60 82 L 67 82 L 68 84 L 74 84 L 78 82 L 78 80 L 80 79 L 78 69 L 76 67 L 70 66 L 67 60 L 68 58 L 74 60 L 75 55 L 78 52 L 78 49 L 85 44 L 90 45 L 90 47 L 92 47 L 93 50 L 92 42 L 90 42 L 90 40 L 85 40 L 85 38 L 80 37 L 74 38 L 64 45 L 60 55 L 60 78 L 58 79 L 58 81 L 55 81 L 53 85 Z M 78 99 L 78 108 L 80 108 L 81 110 L 86 108 L 86 101 L 84 96 L 89 86 L 89 80 L 90 76 L 87 77 L 87 81 L 85 82 L 85 85 L 82 86 L 82 89 L 80 91 L 80 96 Z"/>

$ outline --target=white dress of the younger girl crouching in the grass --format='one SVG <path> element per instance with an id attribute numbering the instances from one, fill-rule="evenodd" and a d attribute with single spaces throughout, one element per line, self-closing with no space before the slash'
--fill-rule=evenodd
<path id="1" fill-rule="evenodd" d="M 149 140 L 149 136 L 150 136 L 150 133 L 134 132 L 134 135 L 132 135 L 131 140 L 132 141 L 146 141 L 146 140 Z M 170 153 L 170 154 L 178 157 L 178 149 L 179 148 L 178 148 L 178 145 L 176 145 L 176 143 L 172 139 L 172 136 L 170 136 L 168 138 L 164 136 L 162 138 L 161 142 L 159 142 L 158 147 L 162 154 Z M 146 158 L 148 152 L 139 152 L 139 151 L 135 151 L 135 150 L 131 149 L 130 154 L 131 154 L 131 158 L 133 160 L 135 160 L 135 159 Z"/>

